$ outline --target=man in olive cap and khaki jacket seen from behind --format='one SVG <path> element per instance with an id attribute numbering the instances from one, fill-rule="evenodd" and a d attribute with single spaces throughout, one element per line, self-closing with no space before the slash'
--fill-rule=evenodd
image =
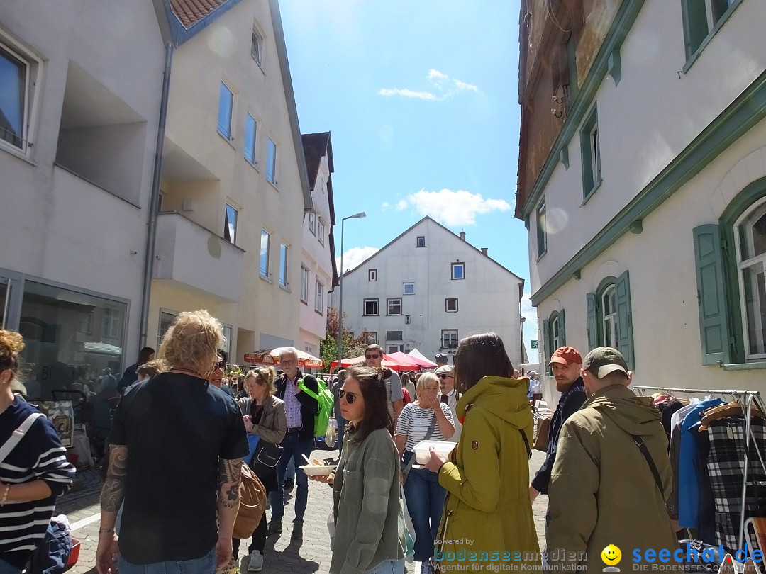
<path id="1" fill-rule="evenodd" d="M 678 544 L 665 507 L 672 471 L 659 411 L 627 388 L 633 373 L 617 349 L 588 353 L 581 375 L 588 400 L 561 428 L 548 488 L 546 536 L 556 550 L 549 563 L 601 571 L 610 544 L 673 556 Z"/>

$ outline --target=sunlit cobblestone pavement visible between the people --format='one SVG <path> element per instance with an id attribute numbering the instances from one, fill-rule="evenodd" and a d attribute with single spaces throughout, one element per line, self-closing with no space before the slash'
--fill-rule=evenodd
<path id="1" fill-rule="evenodd" d="M 315 451 L 312 458 L 337 458 L 337 451 Z M 534 475 L 542 464 L 545 453 L 534 451 L 529 461 L 529 473 Z M 66 514 L 74 527 L 72 533 L 80 540 L 80 559 L 69 572 L 72 574 L 94 574 L 96 572 L 96 546 L 99 530 L 99 495 L 101 480 L 95 471 L 77 473 L 81 482 L 76 492 L 62 497 L 57 504 L 56 513 Z M 74 490 L 74 489 L 73 489 Z M 293 491 L 294 494 L 294 491 Z M 548 497 L 540 495 L 532 504 L 535 515 L 535 527 L 540 540 L 540 549 L 545 546 L 545 508 Z M 309 481 L 309 505 L 304 517 L 303 540 L 290 540 L 293 524 L 293 498 L 287 497 L 284 531 L 279 536 L 267 539 L 264 551 L 264 569 L 262 572 L 328 572 L 331 553 L 327 533 L 327 515 L 332 509 L 332 488 L 326 484 Z M 270 517 L 270 510 L 267 510 Z M 90 520 L 93 520 L 92 522 Z M 242 542 L 240 556 L 247 550 L 247 543 Z M 408 572 L 420 572 L 418 564 L 408 565 Z"/>

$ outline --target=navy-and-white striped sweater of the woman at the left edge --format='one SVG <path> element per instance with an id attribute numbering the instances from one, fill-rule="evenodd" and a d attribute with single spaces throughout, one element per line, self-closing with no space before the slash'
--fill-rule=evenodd
<path id="1" fill-rule="evenodd" d="M 0 413 L 0 444 L 38 410 L 16 397 Z M 39 545 L 53 516 L 56 497 L 69 490 L 74 467 L 67 461 L 56 429 L 44 416 L 38 417 L 10 454 L 0 463 L 0 482 L 22 484 L 38 479 L 51 488 L 51 496 L 40 501 L 6 501 L 0 507 L 0 559 L 24 568 Z M 3 489 L 5 491 L 5 489 Z"/>

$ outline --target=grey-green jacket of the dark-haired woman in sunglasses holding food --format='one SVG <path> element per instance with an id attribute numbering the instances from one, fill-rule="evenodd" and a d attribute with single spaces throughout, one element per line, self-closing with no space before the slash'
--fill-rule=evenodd
<path id="1" fill-rule="evenodd" d="M 334 488 L 336 535 L 331 574 L 360 574 L 404 558 L 399 455 L 386 429 L 361 445 L 347 433 Z"/>

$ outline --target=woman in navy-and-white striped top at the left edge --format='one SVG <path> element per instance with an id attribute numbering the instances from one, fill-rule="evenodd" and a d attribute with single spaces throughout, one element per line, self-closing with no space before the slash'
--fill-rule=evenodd
<path id="1" fill-rule="evenodd" d="M 38 413 L 14 391 L 18 382 L 21 335 L 0 329 L 0 445 L 28 416 Z M 0 461 L 0 574 L 17 574 L 43 540 L 56 497 L 72 483 L 74 467 L 67 461 L 56 429 L 38 416 L 21 442 Z"/>

